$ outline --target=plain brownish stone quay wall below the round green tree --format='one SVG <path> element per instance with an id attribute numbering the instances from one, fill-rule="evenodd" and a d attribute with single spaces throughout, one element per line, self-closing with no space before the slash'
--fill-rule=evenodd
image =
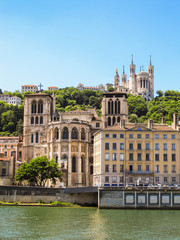
<path id="1" fill-rule="evenodd" d="M 98 188 L 41 188 L 24 186 L 0 186 L 2 202 L 67 202 L 85 206 L 98 205 Z"/>

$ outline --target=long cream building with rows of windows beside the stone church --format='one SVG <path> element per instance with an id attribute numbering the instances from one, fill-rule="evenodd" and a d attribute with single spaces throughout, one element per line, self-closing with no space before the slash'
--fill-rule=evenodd
<path id="1" fill-rule="evenodd" d="M 179 127 L 120 123 L 94 134 L 94 186 L 179 184 Z"/>

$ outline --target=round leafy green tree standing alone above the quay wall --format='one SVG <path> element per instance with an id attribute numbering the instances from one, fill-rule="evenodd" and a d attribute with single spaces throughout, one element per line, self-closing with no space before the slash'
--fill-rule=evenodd
<path id="1" fill-rule="evenodd" d="M 48 179 L 55 184 L 57 179 L 61 181 L 61 178 L 62 171 L 58 168 L 58 163 L 54 159 L 49 160 L 46 156 L 23 163 L 15 176 L 18 182 L 28 181 L 39 187 L 45 187 Z"/>

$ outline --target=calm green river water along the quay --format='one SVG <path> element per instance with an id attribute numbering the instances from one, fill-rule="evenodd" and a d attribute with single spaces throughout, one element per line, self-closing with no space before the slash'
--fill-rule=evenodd
<path id="1" fill-rule="evenodd" d="M 1 206 L 3 239 L 180 239 L 180 210 Z"/>

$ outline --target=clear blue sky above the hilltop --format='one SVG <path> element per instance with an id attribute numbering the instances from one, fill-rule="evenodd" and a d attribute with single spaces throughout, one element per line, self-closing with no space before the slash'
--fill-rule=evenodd
<path id="1" fill-rule="evenodd" d="M 114 82 L 154 65 L 156 90 L 179 90 L 179 0 L 0 0 L 0 88 Z"/>

